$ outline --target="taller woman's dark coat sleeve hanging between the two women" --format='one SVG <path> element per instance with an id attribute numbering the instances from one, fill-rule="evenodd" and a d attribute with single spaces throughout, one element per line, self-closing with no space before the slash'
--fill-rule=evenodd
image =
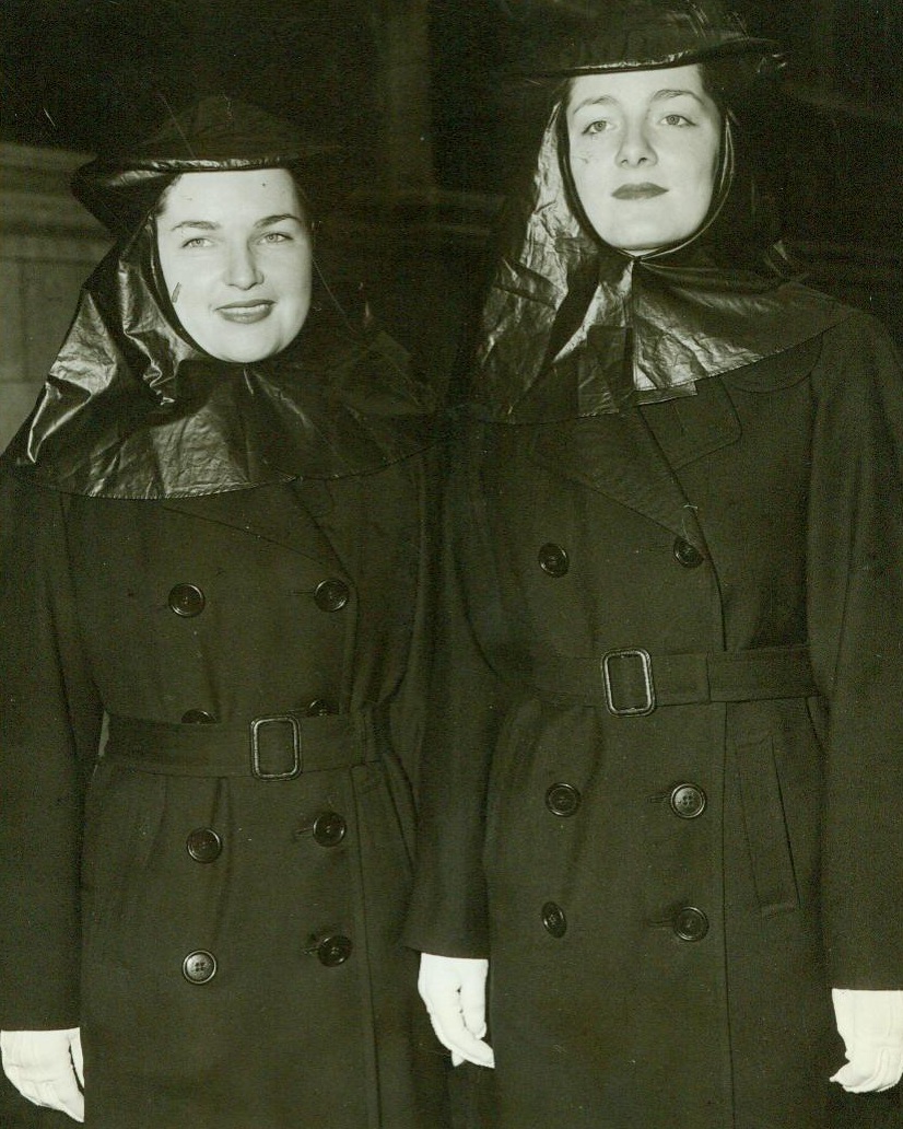
<path id="1" fill-rule="evenodd" d="M 418 819 L 417 881 L 404 939 L 444 956 L 489 951 L 483 831 L 486 789 L 505 712 L 503 682 L 486 657 L 498 637 L 494 562 L 481 522 L 477 458 L 453 444 L 442 501 L 436 653 L 428 695 Z"/>

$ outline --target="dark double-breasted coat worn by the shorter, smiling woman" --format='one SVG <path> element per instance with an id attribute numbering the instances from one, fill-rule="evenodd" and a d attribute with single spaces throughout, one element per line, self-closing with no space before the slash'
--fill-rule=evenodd
<path id="1" fill-rule="evenodd" d="M 400 944 L 430 463 L 154 501 L 3 475 L 0 1016 L 81 1024 L 88 1129 L 445 1123 Z M 289 710 L 301 771 L 255 778 L 248 723 Z M 158 744 L 112 725 L 95 764 L 104 711 Z M 164 763 L 227 729 L 231 774 Z"/>

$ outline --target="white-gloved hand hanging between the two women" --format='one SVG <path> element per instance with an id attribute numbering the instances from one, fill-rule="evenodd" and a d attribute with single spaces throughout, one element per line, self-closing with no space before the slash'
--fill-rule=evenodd
<path id="1" fill-rule="evenodd" d="M 439 1042 L 451 1051 L 451 1062 L 466 1059 L 476 1066 L 496 1065 L 486 1033 L 486 973 L 489 961 L 466 956 L 420 957 L 418 989 L 430 1014 Z"/>

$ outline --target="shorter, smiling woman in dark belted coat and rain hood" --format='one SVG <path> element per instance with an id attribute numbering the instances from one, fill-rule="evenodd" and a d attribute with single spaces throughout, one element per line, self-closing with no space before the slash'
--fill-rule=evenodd
<path id="1" fill-rule="evenodd" d="M 300 158 L 213 98 L 80 172 L 121 237 L 3 458 L 5 1067 L 79 1119 L 84 1044 L 102 1129 L 445 1123 L 430 395 L 321 301 Z"/>

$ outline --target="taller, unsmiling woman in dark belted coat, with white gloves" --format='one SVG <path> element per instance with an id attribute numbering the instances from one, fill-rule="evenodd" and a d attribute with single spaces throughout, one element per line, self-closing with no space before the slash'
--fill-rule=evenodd
<path id="1" fill-rule="evenodd" d="M 770 46 L 599 10 L 451 460 L 405 936 L 484 1066 L 488 959 L 498 1129 L 897 1123 L 898 359 L 763 239 Z"/>

